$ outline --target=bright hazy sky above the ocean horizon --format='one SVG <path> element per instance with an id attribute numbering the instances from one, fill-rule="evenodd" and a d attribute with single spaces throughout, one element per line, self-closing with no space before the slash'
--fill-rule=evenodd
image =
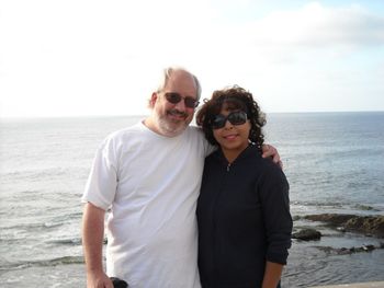
<path id="1" fill-rule="evenodd" d="M 382 0 L 0 0 L 0 117 L 148 114 L 161 69 L 262 111 L 384 111 Z"/>

